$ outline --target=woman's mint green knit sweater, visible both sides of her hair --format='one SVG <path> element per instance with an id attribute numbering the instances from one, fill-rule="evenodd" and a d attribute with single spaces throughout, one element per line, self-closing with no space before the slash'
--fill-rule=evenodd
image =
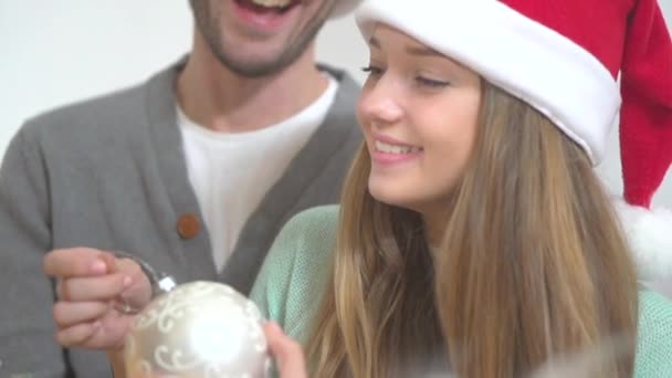
<path id="1" fill-rule="evenodd" d="M 304 345 L 330 267 L 337 223 L 336 206 L 295 216 L 276 238 L 252 290 L 262 314 Z M 638 332 L 634 377 L 672 377 L 672 302 L 641 291 Z"/>

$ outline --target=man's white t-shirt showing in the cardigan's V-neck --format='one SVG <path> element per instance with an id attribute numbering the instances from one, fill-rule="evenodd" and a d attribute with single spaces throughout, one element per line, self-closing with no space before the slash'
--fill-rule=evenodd
<path id="1" fill-rule="evenodd" d="M 218 272 L 248 218 L 326 118 L 337 90 L 338 82 L 329 76 L 327 90 L 308 107 L 249 133 L 210 130 L 191 122 L 177 106 L 189 180 L 210 232 Z"/>

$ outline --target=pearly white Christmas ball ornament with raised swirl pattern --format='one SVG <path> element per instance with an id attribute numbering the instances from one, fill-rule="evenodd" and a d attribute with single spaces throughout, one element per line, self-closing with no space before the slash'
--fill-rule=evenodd
<path id="1" fill-rule="evenodd" d="M 138 314 L 126 351 L 147 376 L 263 377 L 271 365 L 263 322 L 254 303 L 231 287 L 189 283 Z"/>

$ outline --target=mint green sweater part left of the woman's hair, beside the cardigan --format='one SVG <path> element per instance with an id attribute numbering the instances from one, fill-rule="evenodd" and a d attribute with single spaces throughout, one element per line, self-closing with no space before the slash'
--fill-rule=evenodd
<path id="1" fill-rule="evenodd" d="M 282 229 L 252 288 L 261 313 L 305 343 L 332 265 L 338 207 L 303 211 Z"/>

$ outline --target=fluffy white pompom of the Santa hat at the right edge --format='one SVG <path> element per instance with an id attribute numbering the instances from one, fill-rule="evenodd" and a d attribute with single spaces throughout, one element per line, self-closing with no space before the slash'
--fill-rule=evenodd
<path id="1" fill-rule="evenodd" d="M 638 276 L 643 281 L 672 277 L 672 211 L 645 209 L 615 200 L 630 249 L 634 253 Z"/>

